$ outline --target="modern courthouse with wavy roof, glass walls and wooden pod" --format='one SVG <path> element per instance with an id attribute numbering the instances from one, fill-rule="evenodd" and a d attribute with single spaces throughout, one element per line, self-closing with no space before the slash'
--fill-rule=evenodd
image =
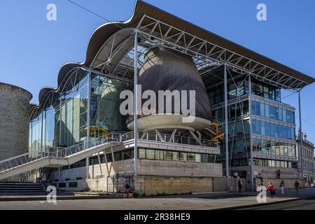
<path id="1" fill-rule="evenodd" d="M 144 1 L 130 20 L 98 27 L 85 62 L 64 64 L 57 80 L 31 106 L 29 155 L 0 162 L 1 179 L 32 171 L 59 190 L 127 182 L 146 194 L 235 190 L 237 178 L 253 190 L 258 175 L 301 181 L 297 111 L 281 90 L 300 95 L 314 78 Z M 171 114 L 123 116 L 123 90 L 144 101 L 135 83 L 195 90 L 195 120 L 184 123 L 176 102 Z"/>

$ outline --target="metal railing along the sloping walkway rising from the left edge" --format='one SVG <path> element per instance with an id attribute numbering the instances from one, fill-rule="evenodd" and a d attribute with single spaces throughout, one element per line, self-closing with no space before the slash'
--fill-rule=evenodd
<path id="1" fill-rule="evenodd" d="M 25 153 L 22 155 L 15 156 L 13 158 L 8 158 L 7 160 L 0 161 L 0 172 L 6 169 L 12 169 L 20 165 L 24 165 L 27 162 L 32 162 L 34 160 L 39 160 L 41 158 L 55 157 L 63 158 L 75 153 L 86 150 L 87 148 L 92 148 L 94 146 L 99 146 L 102 144 L 109 143 L 111 141 L 121 141 L 122 134 L 110 133 L 106 137 L 92 138 L 90 141 L 83 141 L 79 144 L 64 148 L 64 147 L 50 147 L 45 151 L 34 153 Z"/>

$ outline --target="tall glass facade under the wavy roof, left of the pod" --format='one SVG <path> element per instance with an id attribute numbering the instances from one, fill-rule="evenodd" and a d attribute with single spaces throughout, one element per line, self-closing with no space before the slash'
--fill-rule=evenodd
<path id="1" fill-rule="evenodd" d="M 50 147 L 73 146 L 87 137 L 89 74 L 77 69 L 63 81 L 62 93 L 50 94 L 29 122 L 29 151 L 33 157 Z M 119 95 L 128 88 L 126 82 L 91 74 L 90 137 L 127 130 L 119 112 Z"/>

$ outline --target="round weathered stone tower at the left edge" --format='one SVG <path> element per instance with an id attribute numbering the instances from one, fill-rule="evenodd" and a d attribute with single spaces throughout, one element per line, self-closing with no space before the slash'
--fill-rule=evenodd
<path id="1" fill-rule="evenodd" d="M 0 83 L 0 160 L 28 152 L 31 93 Z"/>

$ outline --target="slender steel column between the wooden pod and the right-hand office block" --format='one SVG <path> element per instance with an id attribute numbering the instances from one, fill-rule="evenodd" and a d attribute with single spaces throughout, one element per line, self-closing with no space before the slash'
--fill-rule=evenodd
<path id="1" fill-rule="evenodd" d="M 229 178 L 229 133 L 228 133 L 228 74 L 224 64 L 224 132 L 225 132 L 225 176 Z"/>

